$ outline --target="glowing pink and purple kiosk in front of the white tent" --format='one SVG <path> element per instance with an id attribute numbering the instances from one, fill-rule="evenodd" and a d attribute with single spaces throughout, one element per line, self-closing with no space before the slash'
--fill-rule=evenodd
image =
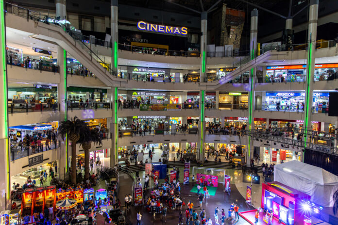
<path id="1" fill-rule="evenodd" d="M 304 202 L 310 201 L 310 195 L 273 181 L 262 184 L 262 210 L 257 225 L 267 225 L 268 215 L 272 213 L 272 225 L 307 225 Z M 254 225 L 257 209 L 240 212 L 250 224 Z M 266 213 L 265 213 L 266 212 Z"/>

